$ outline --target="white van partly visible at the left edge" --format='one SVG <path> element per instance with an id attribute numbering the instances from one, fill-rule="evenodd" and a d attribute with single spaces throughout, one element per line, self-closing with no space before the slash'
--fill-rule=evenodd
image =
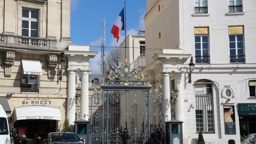
<path id="1" fill-rule="evenodd" d="M 9 124 L 7 120 L 7 115 L 4 108 L 0 104 L 0 143 L 10 144 L 10 133 L 9 133 Z"/>

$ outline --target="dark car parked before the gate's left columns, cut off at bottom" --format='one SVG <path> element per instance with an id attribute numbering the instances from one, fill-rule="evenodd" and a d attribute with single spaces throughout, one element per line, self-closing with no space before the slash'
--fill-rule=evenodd
<path id="1" fill-rule="evenodd" d="M 49 133 L 45 139 L 43 140 L 42 144 L 62 144 L 62 143 L 69 143 L 69 144 L 84 144 L 84 139 L 80 139 L 78 135 L 71 132 L 54 132 Z"/>

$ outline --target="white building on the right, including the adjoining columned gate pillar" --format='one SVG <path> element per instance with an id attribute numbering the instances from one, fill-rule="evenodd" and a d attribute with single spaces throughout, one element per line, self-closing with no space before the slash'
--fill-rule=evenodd
<path id="1" fill-rule="evenodd" d="M 240 143 L 255 133 L 255 3 L 146 3 L 140 72 L 162 85 L 162 120 L 151 121 L 184 121 L 183 143 L 196 143 L 200 131 L 206 143 Z"/>

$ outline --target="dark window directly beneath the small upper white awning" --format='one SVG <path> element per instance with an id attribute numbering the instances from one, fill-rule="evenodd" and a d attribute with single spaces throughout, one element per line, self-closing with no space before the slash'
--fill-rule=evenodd
<path id="1" fill-rule="evenodd" d="M 21 91 L 39 92 L 38 75 L 22 75 Z"/>

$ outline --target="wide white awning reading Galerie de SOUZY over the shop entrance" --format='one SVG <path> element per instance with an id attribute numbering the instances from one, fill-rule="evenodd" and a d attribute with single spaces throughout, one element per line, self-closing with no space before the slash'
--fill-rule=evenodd
<path id="1" fill-rule="evenodd" d="M 61 120 L 60 110 L 55 107 L 27 106 L 15 108 L 16 120 Z"/>

